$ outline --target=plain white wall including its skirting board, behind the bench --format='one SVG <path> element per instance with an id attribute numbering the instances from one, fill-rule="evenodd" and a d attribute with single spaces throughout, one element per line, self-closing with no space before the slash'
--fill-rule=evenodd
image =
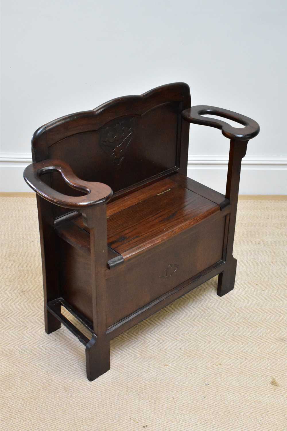
<path id="1" fill-rule="evenodd" d="M 287 2 L 238 3 L 2 0 L 1 190 L 30 191 L 22 171 L 40 125 L 185 81 L 193 105 L 241 112 L 261 126 L 240 192 L 287 194 Z M 224 191 L 228 140 L 198 125 L 190 135 L 188 175 Z"/>

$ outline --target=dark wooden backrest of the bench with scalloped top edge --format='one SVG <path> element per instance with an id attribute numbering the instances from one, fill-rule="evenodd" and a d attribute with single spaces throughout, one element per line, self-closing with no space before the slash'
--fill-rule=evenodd
<path id="1" fill-rule="evenodd" d="M 33 159 L 64 160 L 79 178 L 108 184 L 114 193 L 176 170 L 185 174 L 189 125 L 181 112 L 188 107 L 189 87 L 184 83 L 111 100 L 38 129 L 32 139 Z M 45 176 L 56 190 L 76 193 L 59 174 L 44 175 L 43 180 Z"/>

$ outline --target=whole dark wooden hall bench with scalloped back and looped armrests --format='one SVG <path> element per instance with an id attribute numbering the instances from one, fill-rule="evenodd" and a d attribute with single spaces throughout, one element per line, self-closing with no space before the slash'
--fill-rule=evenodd
<path id="1" fill-rule="evenodd" d="M 225 196 L 186 177 L 189 122 L 231 138 Z M 120 97 L 35 132 L 24 177 L 37 193 L 45 329 L 63 323 L 86 346 L 89 380 L 108 371 L 109 342 L 123 331 L 215 275 L 219 296 L 233 289 L 241 159 L 258 132 L 235 112 L 190 108 L 184 83 Z"/>

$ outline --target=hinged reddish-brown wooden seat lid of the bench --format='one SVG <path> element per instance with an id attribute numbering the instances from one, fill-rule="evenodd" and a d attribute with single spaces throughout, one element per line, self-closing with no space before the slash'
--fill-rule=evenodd
<path id="1" fill-rule="evenodd" d="M 143 189 L 142 198 L 135 192 L 108 205 L 108 245 L 127 260 L 219 210 L 219 205 L 173 181 L 159 181 Z M 85 229 L 81 217 L 71 224 Z"/>

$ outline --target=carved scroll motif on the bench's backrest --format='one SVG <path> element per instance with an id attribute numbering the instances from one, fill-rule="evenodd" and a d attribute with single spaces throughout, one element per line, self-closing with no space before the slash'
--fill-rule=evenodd
<path id="1" fill-rule="evenodd" d="M 121 122 L 118 120 L 110 123 L 108 127 L 102 130 L 100 147 L 111 157 L 112 162 L 116 166 L 120 166 L 133 138 L 133 117 L 124 119 Z"/>

